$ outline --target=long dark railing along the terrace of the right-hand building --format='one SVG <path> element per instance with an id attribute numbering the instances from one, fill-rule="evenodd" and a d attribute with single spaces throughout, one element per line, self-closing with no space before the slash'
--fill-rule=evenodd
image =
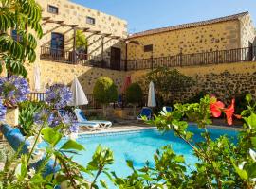
<path id="1" fill-rule="evenodd" d="M 256 46 L 195 54 L 179 54 L 143 60 L 127 60 L 127 70 L 155 69 L 157 67 L 196 66 L 241 61 L 255 61 Z"/>

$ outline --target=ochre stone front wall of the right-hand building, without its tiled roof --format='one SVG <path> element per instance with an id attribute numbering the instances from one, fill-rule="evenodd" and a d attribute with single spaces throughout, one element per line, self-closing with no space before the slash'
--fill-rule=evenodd
<path id="1" fill-rule="evenodd" d="M 225 50 L 239 47 L 239 22 L 229 21 L 196 26 L 169 32 L 137 37 L 139 45 L 129 43 L 128 59 L 148 59 L 152 53 L 144 52 L 144 45 L 153 44 L 154 57 Z"/>

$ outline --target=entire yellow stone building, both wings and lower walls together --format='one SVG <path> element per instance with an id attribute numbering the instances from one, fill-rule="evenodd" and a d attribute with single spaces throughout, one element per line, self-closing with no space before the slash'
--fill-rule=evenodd
<path id="1" fill-rule="evenodd" d="M 79 78 L 86 94 L 92 94 L 94 84 L 101 76 L 111 77 L 120 92 L 125 77 L 131 76 L 133 81 L 139 81 L 150 71 L 147 68 L 126 70 L 132 60 L 176 56 L 181 52 L 187 55 L 223 51 L 255 43 L 255 30 L 247 12 L 128 36 L 127 22 L 117 17 L 68 0 L 38 2 L 43 8 L 44 37 L 38 43 L 36 62 L 27 65 L 32 91 L 35 66 L 39 66 L 41 72 L 40 92 L 45 92 L 46 85 L 55 82 L 70 85 L 74 76 Z M 79 54 L 74 48 L 76 30 L 82 30 L 87 38 L 87 49 Z M 233 57 L 232 54 L 229 57 Z M 243 62 L 238 58 L 213 65 L 176 65 L 175 69 L 198 81 L 192 90 L 177 94 L 178 98 L 188 99 L 200 91 L 210 93 L 216 89 L 221 96 L 242 92 L 256 96 L 255 56 Z M 229 89 L 229 92 L 224 89 Z"/>

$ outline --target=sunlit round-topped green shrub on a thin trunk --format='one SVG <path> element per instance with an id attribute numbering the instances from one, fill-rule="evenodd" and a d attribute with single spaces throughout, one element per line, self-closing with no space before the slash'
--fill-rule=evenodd
<path id="1" fill-rule="evenodd" d="M 93 89 L 94 99 L 103 105 L 103 114 L 106 116 L 106 105 L 118 100 L 118 88 L 109 77 L 99 77 Z"/>

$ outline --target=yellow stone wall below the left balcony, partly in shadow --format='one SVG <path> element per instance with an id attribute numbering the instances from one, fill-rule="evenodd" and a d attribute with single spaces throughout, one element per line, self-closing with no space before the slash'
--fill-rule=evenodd
<path id="1" fill-rule="evenodd" d="M 34 66 L 35 64 L 27 64 L 28 80 L 30 88 L 34 91 Z M 75 76 L 77 76 L 82 84 L 82 88 L 86 94 L 92 94 L 94 84 L 98 77 L 111 77 L 117 84 L 119 91 L 125 78 L 125 72 L 119 72 L 108 69 L 94 68 L 82 65 L 72 65 L 60 62 L 50 62 L 41 60 L 41 89 L 46 90 L 47 85 L 53 83 L 63 83 L 71 85 Z"/>

